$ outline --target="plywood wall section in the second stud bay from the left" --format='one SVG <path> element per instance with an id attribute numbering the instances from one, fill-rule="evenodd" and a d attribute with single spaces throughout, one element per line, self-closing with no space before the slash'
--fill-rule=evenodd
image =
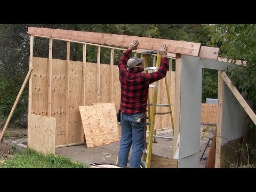
<path id="1" fill-rule="evenodd" d="M 55 144 L 66 141 L 66 60 L 52 59 L 52 117 L 57 118 Z M 67 113 L 68 114 L 68 113 Z"/>

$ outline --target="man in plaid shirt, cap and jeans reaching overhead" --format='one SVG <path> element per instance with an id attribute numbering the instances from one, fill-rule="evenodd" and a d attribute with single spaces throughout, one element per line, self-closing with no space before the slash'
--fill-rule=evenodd
<path id="1" fill-rule="evenodd" d="M 118 153 L 118 165 L 127 166 L 128 155 L 132 145 L 130 167 L 140 168 L 144 148 L 144 121 L 140 121 L 142 113 L 147 111 L 149 84 L 165 77 L 169 63 L 167 62 L 167 46 L 161 45 L 161 66 L 154 73 L 141 73 L 144 70 L 144 58 L 130 58 L 133 50 L 137 50 L 138 40 L 134 40 L 119 60 L 119 80 L 121 82 L 121 141 Z M 130 59 L 129 59 L 130 58 Z M 139 118 L 138 118 L 139 117 Z"/>

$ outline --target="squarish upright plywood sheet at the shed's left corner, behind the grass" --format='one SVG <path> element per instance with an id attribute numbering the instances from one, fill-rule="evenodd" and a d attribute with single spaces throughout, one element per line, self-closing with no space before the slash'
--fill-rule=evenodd
<path id="1" fill-rule="evenodd" d="M 57 118 L 28 114 L 28 147 L 42 154 L 55 154 Z"/>

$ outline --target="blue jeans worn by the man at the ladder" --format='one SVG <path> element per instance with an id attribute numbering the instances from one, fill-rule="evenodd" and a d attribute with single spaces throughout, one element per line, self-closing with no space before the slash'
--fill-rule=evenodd
<path id="1" fill-rule="evenodd" d="M 118 153 L 118 165 L 127 166 L 129 151 L 132 145 L 130 159 L 131 168 L 140 168 L 141 157 L 144 149 L 144 121 L 135 122 L 135 117 L 141 117 L 141 113 L 125 115 L 121 113 L 121 141 Z"/>

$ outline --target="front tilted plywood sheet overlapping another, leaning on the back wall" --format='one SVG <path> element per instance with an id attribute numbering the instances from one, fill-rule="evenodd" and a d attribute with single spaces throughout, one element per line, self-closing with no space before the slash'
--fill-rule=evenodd
<path id="1" fill-rule="evenodd" d="M 102 111 L 97 106 L 79 106 L 87 147 L 109 144 L 109 132 Z"/>

